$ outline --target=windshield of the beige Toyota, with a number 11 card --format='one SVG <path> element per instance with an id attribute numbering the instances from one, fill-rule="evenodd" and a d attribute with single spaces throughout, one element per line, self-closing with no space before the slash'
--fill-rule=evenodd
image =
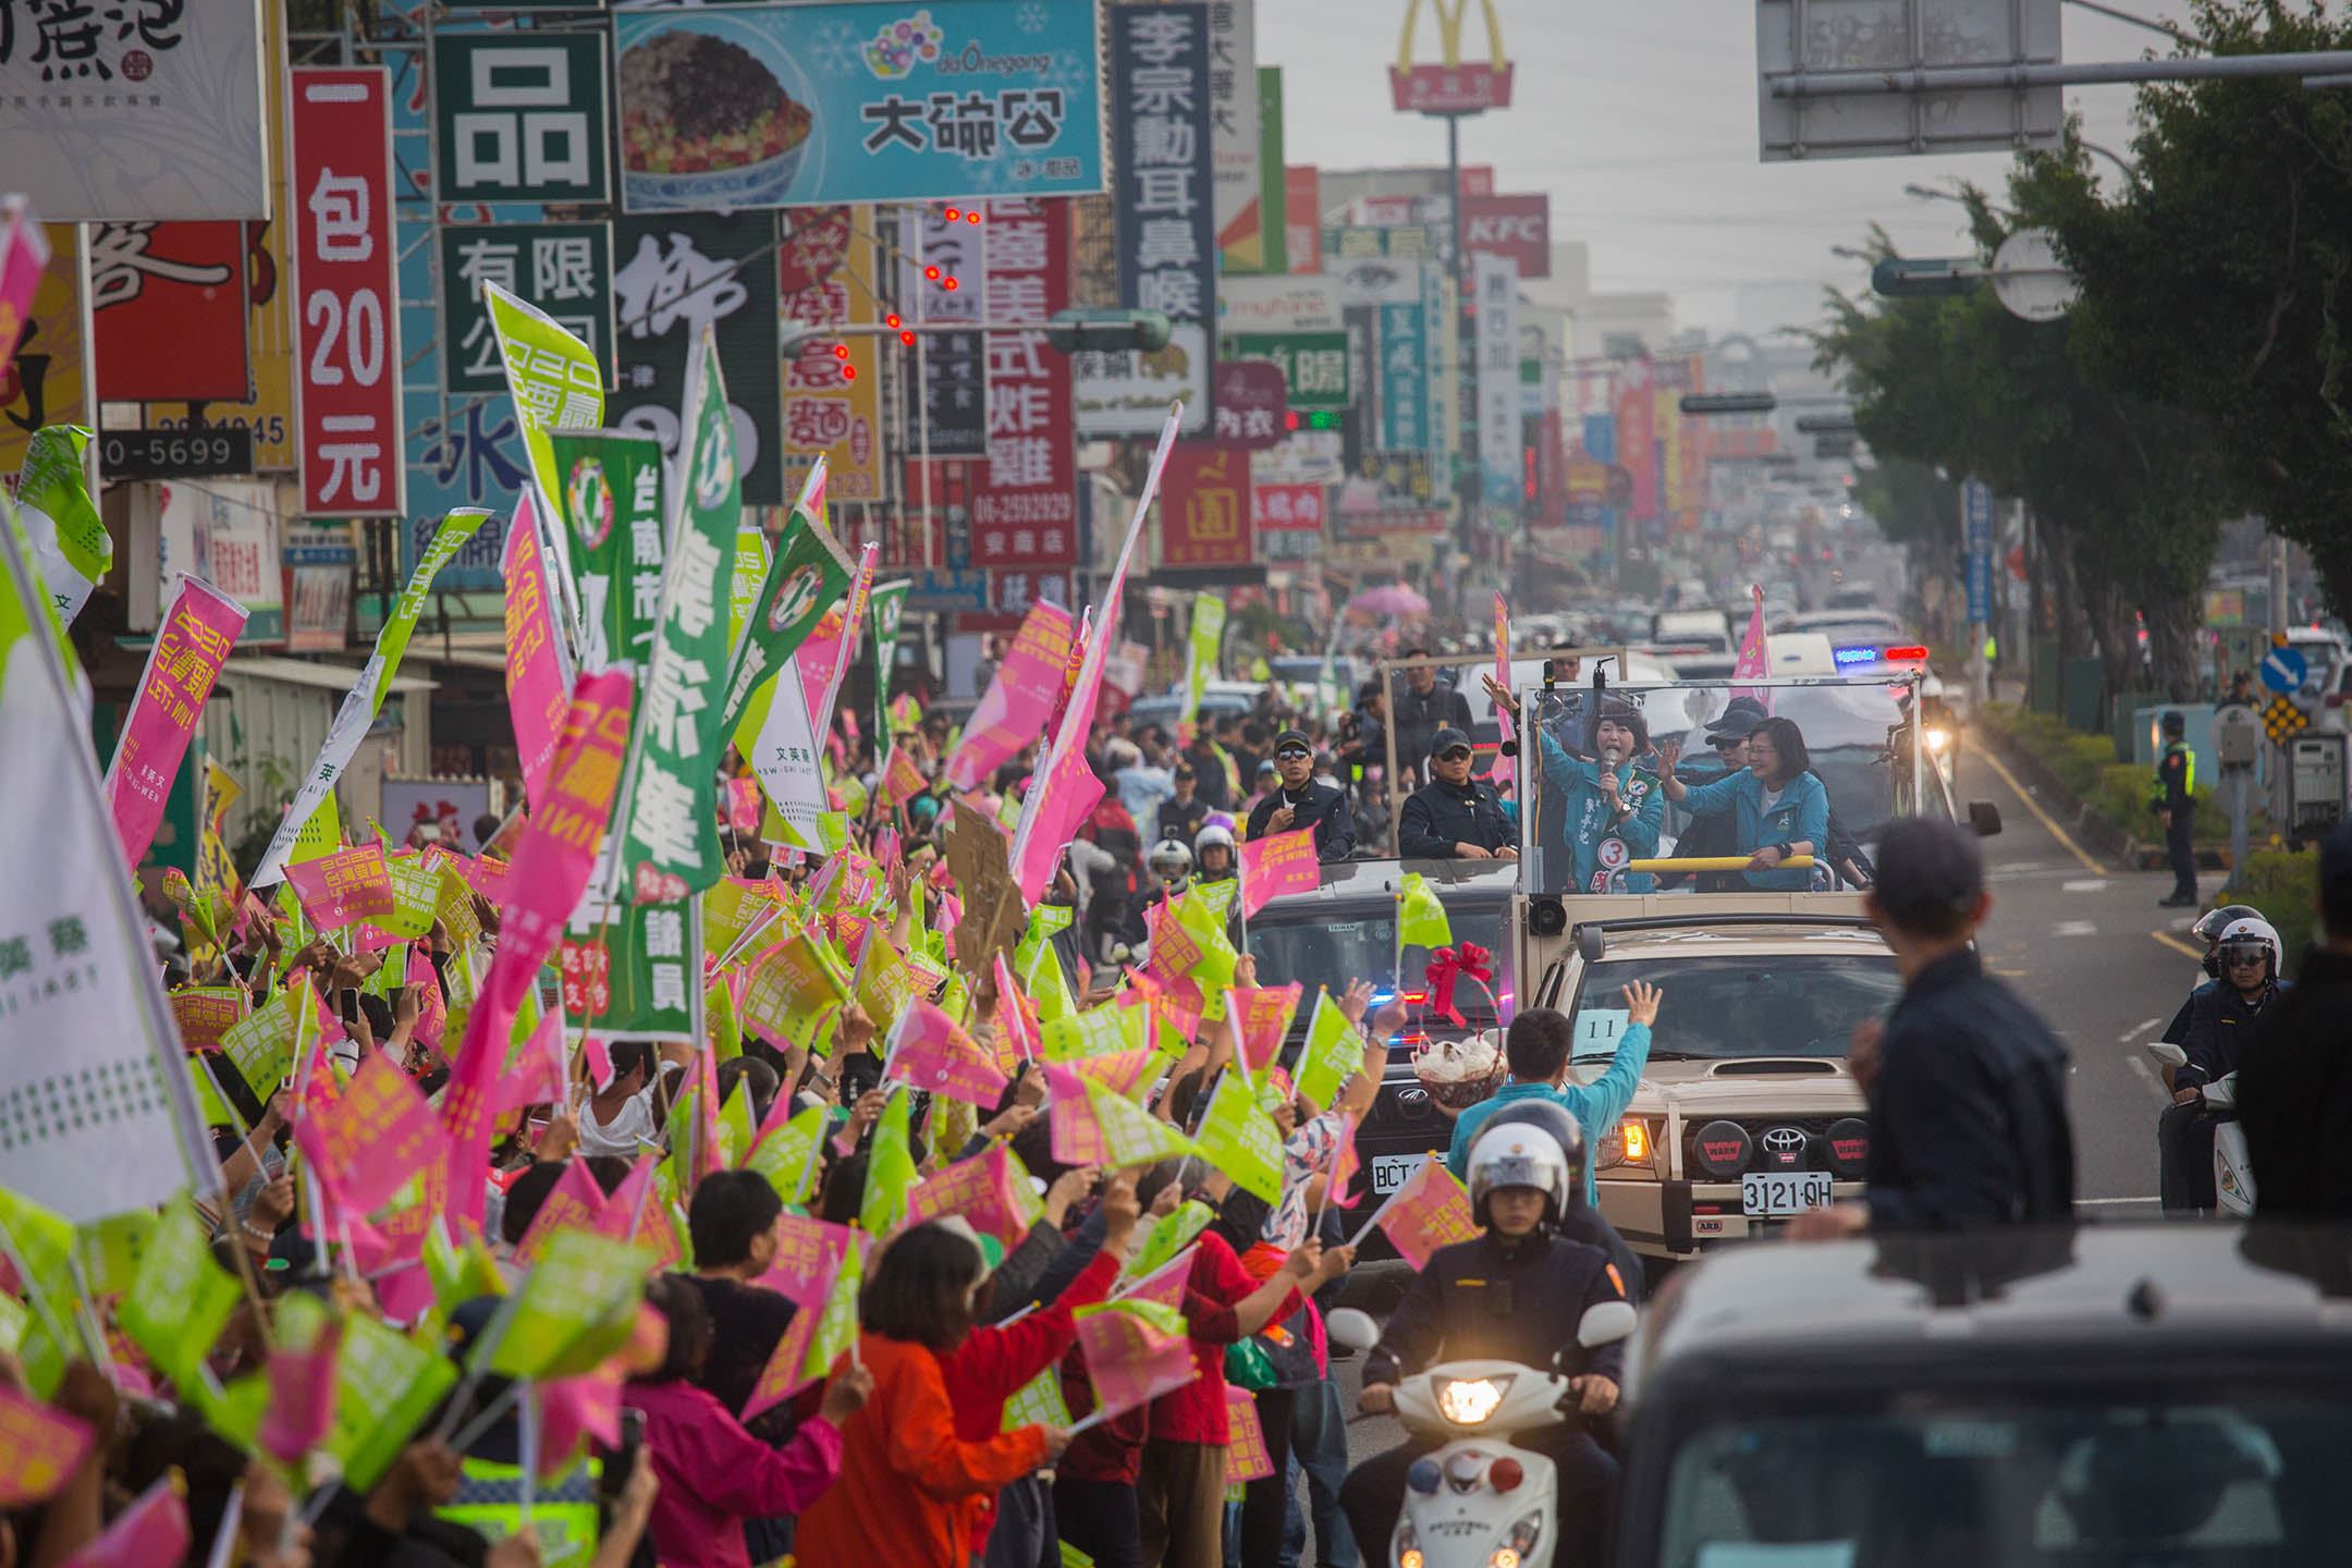
<path id="1" fill-rule="evenodd" d="M 1844 1056 L 1853 1025 L 1884 1016 L 1903 994 L 1891 952 L 1602 959 L 1585 966 L 1571 1001 L 1576 1060 L 1616 1053 L 1635 980 L 1663 992 L 1651 1046 L 1661 1060 Z"/>

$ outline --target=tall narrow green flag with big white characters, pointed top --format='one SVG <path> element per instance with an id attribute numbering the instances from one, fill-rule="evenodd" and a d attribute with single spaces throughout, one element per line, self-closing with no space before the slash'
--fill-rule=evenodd
<path id="1" fill-rule="evenodd" d="M 717 827 L 727 726 L 710 712 L 710 696 L 727 672 L 727 599 L 741 515 L 734 418 L 717 343 L 703 327 L 687 362 L 687 418 L 654 651 L 637 684 L 628 769 L 612 804 L 612 891 L 630 903 L 687 898 L 727 875 Z"/>

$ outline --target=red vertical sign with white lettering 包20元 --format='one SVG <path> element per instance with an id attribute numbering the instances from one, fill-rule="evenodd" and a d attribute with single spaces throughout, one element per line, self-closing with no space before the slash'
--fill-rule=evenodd
<path id="1" fill-rule="evenodd" d="M 296 68 L 292 143 L 301 510 L 402 517 L 390 73 Z"/>

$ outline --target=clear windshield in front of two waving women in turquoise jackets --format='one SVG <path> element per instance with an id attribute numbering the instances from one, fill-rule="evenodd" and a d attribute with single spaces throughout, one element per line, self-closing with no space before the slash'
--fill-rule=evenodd
<path id="1" fill-rule="evenodd" d="M 1534 811 L 1519 811 L 1519 884 L 1529 893 L 1860 886 L 1872 875 L 1867 844 L 1915 811 L 1915 693 L 1910 677 L 1609 686 L 1597 703 L 1590 686 L 1524 691 L 1522 710 L 1543 715 L 1543 783 Z M 1811 865 L 1778 865 L 1780 844 L 1809 844 Z M 1769 863 L 1759 851 L 1773 851 Z"/>

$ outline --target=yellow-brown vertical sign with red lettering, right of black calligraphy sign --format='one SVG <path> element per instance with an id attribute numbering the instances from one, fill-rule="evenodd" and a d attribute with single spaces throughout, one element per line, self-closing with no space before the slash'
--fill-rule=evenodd
<path id="1" fill-rule="evenodd" d="M 786 322 L 826 327 L 873 324 L 875 263 L 873 207 L 826 207 L 786 214 L 776 247 L 776 308 Z M 833 346 L 849 348 L 847 357 Z M 882 496 L 882 386 L 875 339 L 814 336 L 783 362 L 783 489 L 826 456 L 830 501 Z"/>

